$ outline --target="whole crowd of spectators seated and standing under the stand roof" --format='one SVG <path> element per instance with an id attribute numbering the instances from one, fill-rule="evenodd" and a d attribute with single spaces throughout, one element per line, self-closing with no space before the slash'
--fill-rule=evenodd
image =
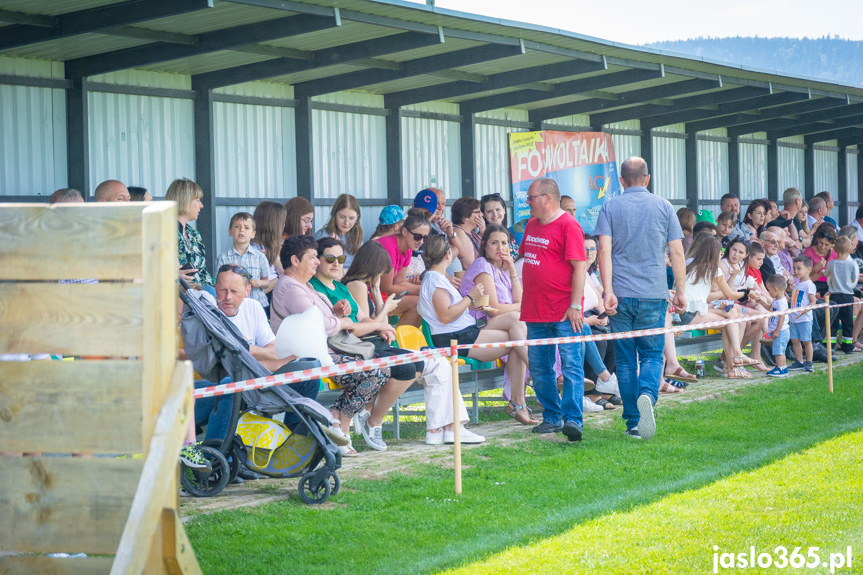
<path id="1" fill-rule="evenodd" d="M 668 202 L 647 191 L 643 161 L 627 160 L 624 168 L 624 192 L 600 212 L 595 237 L 576 222 L 576 202 L 547 178 L 528 191 L 531 218 L 513 225 L 498 194 L 457 198 L 450 220 L 445 192 L 428 188 L 407 210 L 383 208 L 372 234 L 360 225 L 357 199 L 342 194 L 314 232 L 312 204 L 297 197 L 285 204 L 262 201 L 253 214 L 234 214 L 224 230 L 232 246 L 218 255 L 214 274 L 194 225 L 204 191 L 178 179 L 164 197 L 177 203 L 179 277 L 207 292 L 248 332 L 253 355 L 274 369 L 287 361 L 276 358 L 272 348 L 280 324 L 310 308 L 320 310 L 330 342 L 352 334 L 372 344 L 375 357 L 387 357 L 404 352 L 396 347 L 398 326 L 423 328 L 431 340 L 426 344 L 442 347 L 454 339 L 494 343 L 637 329 L 648 321 L 645 302 L 657 311 L 650 312 L 651 325 L 662 327 L 803 307 L 827 292 L 837 303 L 860 296 L 863 208 L 852 225 L 840 230 L 828 216 L 833 208 L 829 193 L 807 203 L 799 190 L 789 188 L 781 210 L 769 199 L 757 199 L 744 211 L 737 197 L 726 194 L 716 215 L 681 208 L 675 217 Z M 94 198 L 152 200 L 146 189 L 116 180 L 100 184 Z M 52 203 L 81 201 L 72 189 L 51 196 Z M 645 219 L 644 210 L 654 210 L 652 220 Z M 645 279 L 639 266 L 650 268 L 650 274 L 662 270 L 661 275 Z M 652 299 L 644 299 L 648 293 Z M 850 306 L 838 314 L 845 353 L 863 347 L 857 342 L 863 320 L 855 321 L 855 315 Z M 787 376 L 788 370 L 812 371 L 820 342 L 831 337 L 823 333 L 822 318 L 823 313 L 808 311 L 727 325 L 721 328 L 723 353 L 715 367 L 732 379 L 751 377 L 749 368 L 775 377 Z M 362 357 L 333 345 L 330 356 L 337 363 Z M 640 436 L 649 437 L 658 394 L 681 393 L 697 381 L 680 365 L 670 334 L 613 345 L 475 348 L 460 354 L 480 362 L 502 360 L 506 413 L 537 433 L 562 431 L 573 441 L 581 439 L 583 411 L 618 406 L 623 406 L 627 434 L 639 436 L 640 413 Z M 786 363 L 787 354 L 793 363 Z M 658 380 L 655 389 L 642 381 L 646 375 Z M 452 442 L 454 426 L 463 426 L 467 413 L 463 406 L 453 412 L 451 392 L 445 391 L 449 377 L 446 362 L 432 360 L 333 378 L 341 394 L 330 406 L 328 433 L 345 456 L 357 455 L 352 426 L 370 447 L 386 450 L 384 417 L 419 380 L 429 388 L 426 442 Z M 526 383 L 531 382 L 544 408 L 542 423 L 527 406 Z M 302 392 L 317 395 L 317 389 Z M 645 411 L 647 401 L 650 410 Z M 210 421 L 207 437 L 224 434 L 215 405 L 198 407 L 199 423 Z M 461 440 L 483 438 L 462 427 Z M 199 461 L 194 444 L 190 431 L 187 463 Z"/>

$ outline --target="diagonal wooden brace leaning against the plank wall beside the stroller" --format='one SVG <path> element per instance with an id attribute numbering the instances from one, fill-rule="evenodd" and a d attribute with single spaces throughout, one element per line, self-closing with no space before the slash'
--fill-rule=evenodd
<path id="1" fill-rule="evenodd" d="M 192 417 L 193 411 L 192 366 L 189 362 L 177 362 L 165 405 L 156 421 L 135 500 L 123 529 L 123 538 L 111 567 L 114 575 L 141 573 L 147 564 L 154 534 L 162 525 L 162 510 L 168 498 L 174 497 L 170 490 L 175 484 L 166 479 L 176 473 L 177 456 L 186 435 L 188 418 Z M 161 556 L 162 550 L 163 546 L 159 545 L 156 554 Z"/>

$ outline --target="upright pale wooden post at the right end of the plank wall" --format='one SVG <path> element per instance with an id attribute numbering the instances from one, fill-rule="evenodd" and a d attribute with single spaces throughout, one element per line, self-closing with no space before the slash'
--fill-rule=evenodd
<path id="1" fill-rule="evenodd" d="M 172 203 L 144 210 L 143 257 L 146 275 L 143 299 L 144 418 L 143 453 L 147 454 L 156 417 L 165 400 L 177 358 L 177 216 Z"/>

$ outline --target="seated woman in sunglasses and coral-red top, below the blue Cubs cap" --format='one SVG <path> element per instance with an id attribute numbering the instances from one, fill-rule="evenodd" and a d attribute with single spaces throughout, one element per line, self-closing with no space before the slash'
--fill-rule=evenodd
<path id="1" fill-rule="evenodd" d="M 423 245 L 429 233 L 431 233 L 429 220 L 420 215 L 411 214 L 405 219 L 398 234 L 374 240 L 387 250 L 392 264 L 392 271 L 381 276 L 381 290 L 390 297 L 404 294 L 399 305 L 393 310 L 393 314 L 399 316 L 399 325 L 419 326 L 420 324 L 417 313 L 420 286 L 407 279 L 407 268 L 410 266 L 413 252 Z"/>

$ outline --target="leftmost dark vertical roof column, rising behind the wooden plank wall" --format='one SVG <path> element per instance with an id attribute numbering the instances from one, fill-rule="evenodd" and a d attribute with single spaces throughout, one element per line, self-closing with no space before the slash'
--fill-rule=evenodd
<path id="1" fill-rule="evenodd" d="M 69 78 L 66 90 L 66 169 L 69 187 L 90 199 L 90 120 L 87 78 Z"/>

